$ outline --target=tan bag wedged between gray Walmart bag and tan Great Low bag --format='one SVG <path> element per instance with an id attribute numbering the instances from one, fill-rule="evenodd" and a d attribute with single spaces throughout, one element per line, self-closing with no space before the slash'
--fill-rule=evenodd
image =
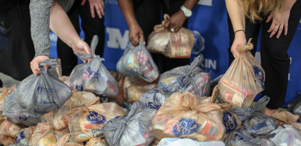
<path id="1" fill-rule="evenodd" d="M 96 96 L 91 92 L 85 91 L 73 91 L 73 95 L 70 99 L 59 110 L 51 111 L 50 113 L 44 114 L 44 117 L 48 123 L 50 123 L 55 130 L 62 130 L 68 127 L 66 117 L 62 117 L 62 114 L 70 111 L 72 108 L 79 108 L 85 106 L 88 102 L 95 99 Z M 99 104 L 99 102 L 97 102 Z"/>

